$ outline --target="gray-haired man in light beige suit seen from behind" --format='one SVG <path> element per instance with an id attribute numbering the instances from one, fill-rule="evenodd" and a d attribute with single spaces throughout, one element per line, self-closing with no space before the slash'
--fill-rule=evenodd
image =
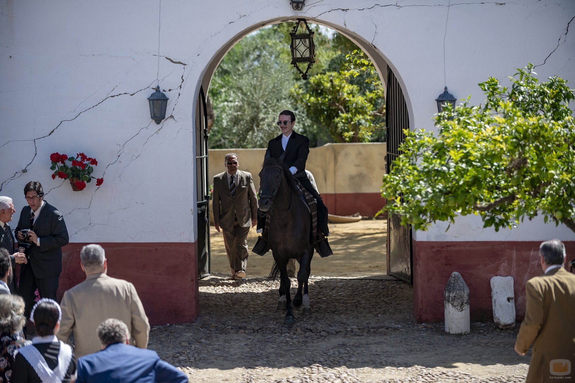
<path id="1" fill-rule="evenodd" d="M 146 348 L 150 323 L 134 285 L 106 275 L 108 261 L 102 246 L 84 246 L 80 258 L 86 280 L 64 293 L 58 339 L 68 342 L 74 331 L 76 358 L 95 353 L 102 349 L 96 329 L 102 321 L 115 318 L 128 325 L 131 344 Z"/>

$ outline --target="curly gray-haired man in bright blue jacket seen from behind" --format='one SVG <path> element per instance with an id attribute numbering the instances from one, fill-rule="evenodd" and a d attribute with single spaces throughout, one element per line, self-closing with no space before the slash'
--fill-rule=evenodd
<path id="1" fill-rule="evenodd" d="M 156 351 L 129 346 L 127 325 L 106 319 L 98 326 L 102 350 L 78 359 L 78 383 L 187 383 L 186 374 L 162 361 Z"/>

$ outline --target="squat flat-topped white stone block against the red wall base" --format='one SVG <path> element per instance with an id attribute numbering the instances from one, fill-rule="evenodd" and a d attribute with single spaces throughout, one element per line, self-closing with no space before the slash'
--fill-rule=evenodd
<path id="1" fill-rule="evenodd" d="M 493 320 L 503 330 L 515 327 L 515 294 L 513 277 L 491 278 Z"/>

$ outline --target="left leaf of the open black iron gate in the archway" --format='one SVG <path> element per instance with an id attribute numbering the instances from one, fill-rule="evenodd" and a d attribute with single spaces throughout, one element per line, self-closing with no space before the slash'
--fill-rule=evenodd
<path id="1" fill-rule="evenodd" d="M 196 209 L 198 227 L 198 277 L 204 278 L 212 272 L 210 262 L 210 209 L 208 175 L 208 111 L 204 88 L 200 87 L 196 116 Z"/>

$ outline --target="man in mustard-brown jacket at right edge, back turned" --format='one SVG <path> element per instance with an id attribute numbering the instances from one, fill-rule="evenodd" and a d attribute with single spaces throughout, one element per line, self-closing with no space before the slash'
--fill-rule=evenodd
<path id="1" fill-rule="evenodd" d="M 545 274 L 525 286 L 525 319 L 515 351 L 525 355 L 533 343 L 527 382 L 575 382 L 575 275 L 563 269 L 565 246 L 558 239 L 539 247 Z"/>

